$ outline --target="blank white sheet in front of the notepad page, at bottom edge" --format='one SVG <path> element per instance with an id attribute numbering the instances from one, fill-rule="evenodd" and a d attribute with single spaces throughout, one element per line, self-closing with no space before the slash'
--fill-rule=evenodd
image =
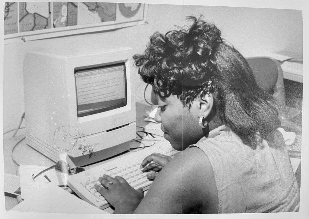
<path id="1" fill-rule="evenodd" d="M 45 184 L 31 199 L 25 199 L 11 211 L 44 213 L 107 214 L 53 183 Z"/>

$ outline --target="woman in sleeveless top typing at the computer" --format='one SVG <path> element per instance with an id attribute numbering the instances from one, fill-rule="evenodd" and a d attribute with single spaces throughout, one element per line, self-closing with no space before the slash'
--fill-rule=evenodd
<path id="1" fill-rule="evenodd" d="M 145 53 L 133 57 L 158 97 L 155 120 L 164 138 L 182 152 L 142 161 L 141 167 L 151 161 L 164 167 L 150 176 L 145 197 L 117 176 L 104 175 L 96 189 L 114 213 L 298 211 L 276 101 L 214 24 L 189 19 L 188 30 L 154 33 Z"/>

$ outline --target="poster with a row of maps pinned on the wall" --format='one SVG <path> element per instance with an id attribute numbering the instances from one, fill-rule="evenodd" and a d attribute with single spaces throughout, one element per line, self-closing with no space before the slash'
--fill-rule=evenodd
<path id="1" fill-rule="evenodd" d="M 5 2 L 4 43 L 89 33 L 146 23 L 148 4 Z"/>

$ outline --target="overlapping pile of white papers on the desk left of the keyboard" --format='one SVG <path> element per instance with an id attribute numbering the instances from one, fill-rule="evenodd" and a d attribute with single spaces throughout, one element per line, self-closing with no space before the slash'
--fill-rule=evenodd
<path id="1" fill-rule="evenodd" d="M 106 213 L 59 187 L 59 177 L 57 176 L 55 169 L 51 169 L 41 174 L 35 180 L 32 179 L 32 174 L 36 175 L 46 168 L 47 167 L 43 166 L 20 165 L 19 175 L 21 197 L 24 200 L 12 208 L 11 211 L 91 214 Z M 63 179 L 60 179 L 60 181 L 63 181 Z"/>

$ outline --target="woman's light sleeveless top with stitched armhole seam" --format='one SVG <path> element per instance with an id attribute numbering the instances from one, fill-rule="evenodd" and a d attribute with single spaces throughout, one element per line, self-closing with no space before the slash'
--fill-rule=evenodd
<path id="1" fill-rule="evenodd" d="M 299 211 L 299 189 L 281 133 L 255 150 L 222 125 L 197 144 L 207 155 L 218 188 L 218 213 Z"/>

